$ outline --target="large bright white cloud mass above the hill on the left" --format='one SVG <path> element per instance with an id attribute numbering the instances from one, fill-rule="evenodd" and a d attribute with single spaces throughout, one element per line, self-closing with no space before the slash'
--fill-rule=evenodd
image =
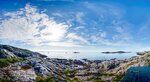
<path id="1" fill-rule="evenodd" d="M 86 42 L 77 35 L 68 35 L 69 25 L 65 22 L 56 22 L 43 11 L 27 4 L 16 12 L 4 14 L 7 18 L 0 23 L 0 39 L 8 39 L 25 42 L 31 45 L 50 46 L 78 46 L 66 39 L 78 39 Z M 69 36 L 69 37 L 68 37 Z M 72 38 L 72 39 L 73 39 Z"/>

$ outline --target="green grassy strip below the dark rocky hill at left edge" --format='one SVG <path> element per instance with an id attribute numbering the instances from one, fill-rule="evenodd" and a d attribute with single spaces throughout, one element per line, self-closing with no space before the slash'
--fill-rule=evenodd
<path id="1" fill-rule="evenodd" d="M 25 59 L 20 57 L 8 57 L 0 59 L 0 68 L 7 67 L 13 63 L 23 61 Z"/>

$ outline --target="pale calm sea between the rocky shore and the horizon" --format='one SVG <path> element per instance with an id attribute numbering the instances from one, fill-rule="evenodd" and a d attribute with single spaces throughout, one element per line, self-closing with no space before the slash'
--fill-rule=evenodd
<path id="1" fill-rule="evenodd" d="M 115 54 L 104 54 L 101 52 L 63 52 L 63 51 L 40 51 L 49 58 L 60 58 L 60 59 L 88 59 L 88 60 L 109 60 L 113 58 L 117 59 L 128 59 L 133 56 L 137 56 L 135 52 L 132 53 L 115 53 Z"/>

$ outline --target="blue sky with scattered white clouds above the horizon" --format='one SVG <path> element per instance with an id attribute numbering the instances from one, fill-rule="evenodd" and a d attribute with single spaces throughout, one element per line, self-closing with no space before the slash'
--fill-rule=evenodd
<path id="1" fill-rule="evenodd" d="M 30 50 L 150 50 L 149 0 L 0 3 L 0 44 Z"/>

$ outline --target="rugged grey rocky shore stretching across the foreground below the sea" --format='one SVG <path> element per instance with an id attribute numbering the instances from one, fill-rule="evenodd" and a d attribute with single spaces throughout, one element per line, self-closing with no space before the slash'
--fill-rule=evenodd
<path id="1" fill-rule="evenodd" d="M 5 78 L 10 82 L 35 82 L 39 76 L 49 77 L 52 81 L 112 81 L 129 67 L 145 66 L 147 58 L 142 55 L 126 60 L 67 60 L 47 58 L 37 52 L 0 45 L 0 59 L 9 57 L 25 58 L 0 68 L 0 80 Z"/>

